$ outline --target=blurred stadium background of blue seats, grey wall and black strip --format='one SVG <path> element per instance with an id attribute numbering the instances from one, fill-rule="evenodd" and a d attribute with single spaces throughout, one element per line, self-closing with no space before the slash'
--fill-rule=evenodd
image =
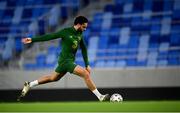
<path id="1" fill-rule="evenodd" d="M 84 15 L 92 78 L 124 100 L 179 100 L 180 0 L 1 0 L 0 101 L 16 101 L 24 81 L 54 70 L 60 41 L 23 45 L 21 38 L 55 32 Z M 84 65 L 81 51 L 77 64 Z M 34 88 L 24 101 L 96 101 L 67 74 Z"/>

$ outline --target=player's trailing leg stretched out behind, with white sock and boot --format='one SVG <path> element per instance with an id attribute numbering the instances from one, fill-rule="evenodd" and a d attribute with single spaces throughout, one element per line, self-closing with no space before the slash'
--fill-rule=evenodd
<path id="1" fill-rule="evenodd" d="M 57 72 L 53 72 L 50 75 L 46 75 L 46 76 L 42 76 L 41 78 L 39 78 L 38 80 L 34 80 L 32 82 L 25 82 L 24 83 L 24 87 L 22 89 L 21 95 L 18 97 L 18 101 L 20 101 L 21 98 L 23 98 L 28 92 L 29 90 L 37 85 L 40 84 L 45 84 L 45 83 L 49 83 L 49 82 L 55 82 L 58 81 L 59 79 L 61 79 L 63 76 L 65 75 L 65 73 L 57 73 Z"/>

